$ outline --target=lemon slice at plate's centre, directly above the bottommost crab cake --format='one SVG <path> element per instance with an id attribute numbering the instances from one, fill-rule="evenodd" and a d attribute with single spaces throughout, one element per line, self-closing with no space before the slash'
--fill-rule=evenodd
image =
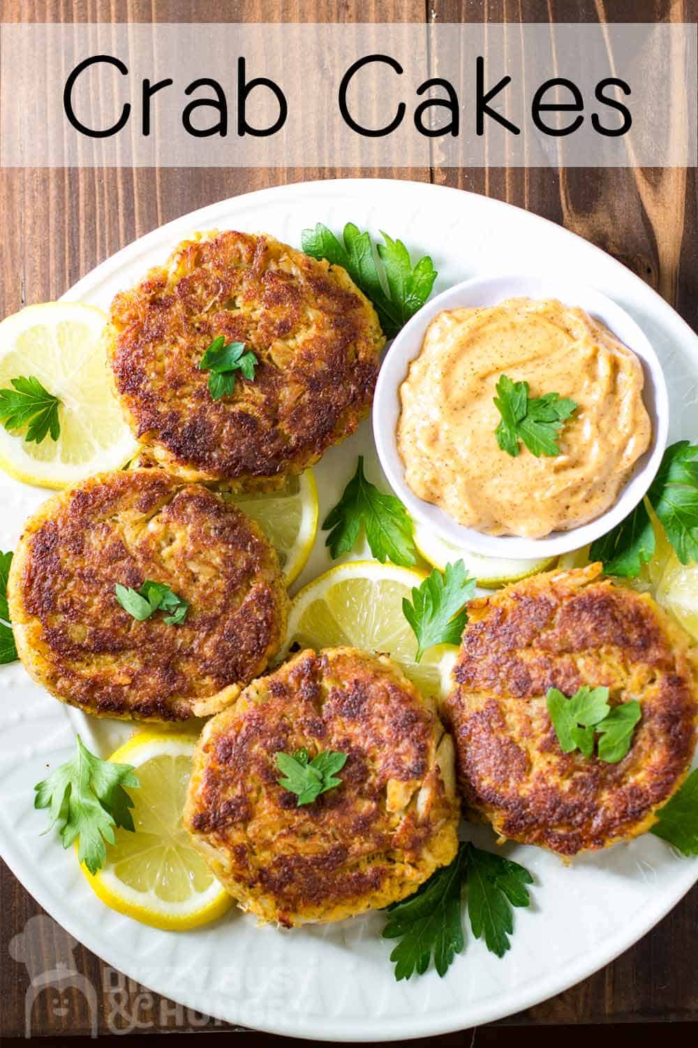
<path id="1" fill-rule="evenodd" d="M 429 648 L 416 663 L 416 638 L 402 610 L 403 597 L 411 599 L 412 587 L 425 577 L 422 571 L 378 561 L 331 568 L 295 596 L 282 657 L 296 643 L 316 650 L 348 645 L 385 652 L 424 695 L 443 695 L 457 648 Z"/>

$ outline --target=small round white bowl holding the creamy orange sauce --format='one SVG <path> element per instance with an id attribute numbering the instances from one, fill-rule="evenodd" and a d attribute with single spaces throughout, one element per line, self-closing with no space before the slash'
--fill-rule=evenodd
<path id="1" fill-rule="evenodd" d="M 419 355 L 426 329 L 444 309 L 463 306 L 494 306 L 503 299 L 559 299 L 579 306 L 610 328 L 613 334 L 639 357 L 645 372 L 643 398 L 652 422 L 652 442 L 637 461 L 621 495 L 601 517 L 569 531 L 554 531 L 543 539 L 491 536 L 464 527 L 437 506 L 424 502 L 407 486 L 398 451 L 400 387 L 410 362 Z M 376 386 L 373 410 L 374 437 L 383 472 L 395 493 L 415 520 L 432 528 L 446 542 L 485 556 L 539 558 L 579 549 L 610 531 L 637 505 L 659 468 L 669 431 L 669 393 L 657 354 L 647 336 L 628 313 L 605 294 L 555 276 L 504 275 L 467 280 L 427 302 L 405 325 L 385 355 Z"/>

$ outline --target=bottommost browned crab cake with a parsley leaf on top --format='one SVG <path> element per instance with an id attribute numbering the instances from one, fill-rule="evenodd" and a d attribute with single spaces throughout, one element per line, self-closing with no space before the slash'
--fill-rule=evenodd
<path id="1" fill-rule="evenodd" d="M 341 785 L 298 806 L 276 754 L 347 755 Z M 454 857 L 453 744 L 385 655 L 303 651 L 206 724 L 184 824 L 244 910 L 291 926 L 414 892 Z"/>

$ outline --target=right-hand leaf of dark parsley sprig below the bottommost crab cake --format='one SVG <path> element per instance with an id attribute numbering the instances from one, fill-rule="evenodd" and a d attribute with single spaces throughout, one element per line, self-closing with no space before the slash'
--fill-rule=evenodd
<path id="1" fill-rule="evenodd" d="M 463 847 L 463 846 L 461 846 Z M 468 844 L 468 914 L 476 939 L 497 957 L 510 948 L 514 931 L 512 907 L 531 902 L 526 885 L 533 877 L 525 867 Z"/>

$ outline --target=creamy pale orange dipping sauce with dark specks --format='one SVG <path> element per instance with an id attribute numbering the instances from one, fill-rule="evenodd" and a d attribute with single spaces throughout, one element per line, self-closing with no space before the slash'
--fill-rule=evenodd
<path id="1" fill-rule="evenodd" d="M 559 393 L 579 407 L 560 454 L 501 451 L 494 403 L 502 374 L 528 395 Z M 508 299 L 448 309 L 427 328 L 400 395 L 398 447 L 409 487 L 466 527 L 539 539 L 605 512 L 650 444 L 643 367 L 583 309 Z"/>

